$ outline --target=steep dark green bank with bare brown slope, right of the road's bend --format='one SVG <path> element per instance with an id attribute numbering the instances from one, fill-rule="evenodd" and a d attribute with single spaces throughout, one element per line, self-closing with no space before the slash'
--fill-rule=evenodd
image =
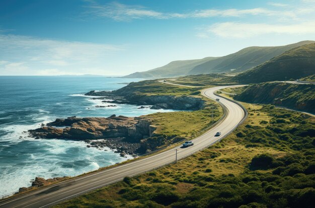
<path id="1" fill-rule="evenodd" d="M 235 100 L 273 104 L 315 113 L 315 85 L 261 83 L 247 87 Z"/>

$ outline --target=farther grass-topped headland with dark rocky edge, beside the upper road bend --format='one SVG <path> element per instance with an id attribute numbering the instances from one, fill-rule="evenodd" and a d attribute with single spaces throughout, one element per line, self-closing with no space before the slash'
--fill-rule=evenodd
<path id="1" fill-rule="evenodd" d="M 100 96 L 91 99 L 100 99 L 107 103 L 152 105 L 152 109 L 200 110 L 205 102 L 200 97 L 194 96 L 200 89 L 181 87 L 174 89 L 156 80 L 145 80 L 132 82 L 118 90 L 93 90 L 85 95 Z"/>

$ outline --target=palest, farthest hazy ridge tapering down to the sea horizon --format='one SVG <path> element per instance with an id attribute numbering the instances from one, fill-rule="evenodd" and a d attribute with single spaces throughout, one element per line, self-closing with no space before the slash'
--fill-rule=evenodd
<path id="1" fill-rule="evenodd" d="M 136 72 L 125 76 L 124 78 L 166 78 L 179 77 L 187 75 L 196 65 L 202 64 L 209 60 L 214 60 L 217 57 L 206 57 L 202 59 L 193 60 L 176 60 L 172 61 L 162 67 L 153 68 L 146 72 Z"/>

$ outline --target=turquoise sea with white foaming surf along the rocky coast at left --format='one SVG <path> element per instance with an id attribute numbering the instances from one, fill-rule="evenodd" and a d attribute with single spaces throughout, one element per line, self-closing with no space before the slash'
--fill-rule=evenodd
<path id="1" fill-rule="evenodd" d="M 34 140 L 25 131 L 74 115 L 139 116 L 170 111 L 137 109 L 126 104 L 95 108 L 101 101 L 83 95 L 91 90 L 119 89 L 125 83 L 139 80 L 101 76 L 0 76 L 0 195 L 30 186 L 36 176 L 73 176 L 126 160 L 110 150 L 87 148 L 84 142 Z"/>

